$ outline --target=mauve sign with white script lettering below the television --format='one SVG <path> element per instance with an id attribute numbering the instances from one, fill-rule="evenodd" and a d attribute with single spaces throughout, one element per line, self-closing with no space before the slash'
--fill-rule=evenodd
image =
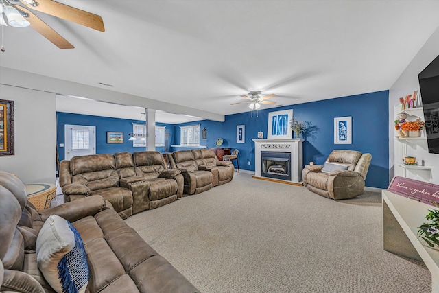
<path id="1" fill-rule="evenodd" d="M 433 206 L 439 202 L 439 185 L 428 182 L 394 176 L 388 190 Z"/>

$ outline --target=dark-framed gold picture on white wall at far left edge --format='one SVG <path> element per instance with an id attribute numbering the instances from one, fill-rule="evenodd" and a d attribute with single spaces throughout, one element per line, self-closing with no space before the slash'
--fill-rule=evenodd
<path id="1" fill-rule="evenodd" d="M 14 155 L 14 101 L 0 99 L 0 156 Z"/>

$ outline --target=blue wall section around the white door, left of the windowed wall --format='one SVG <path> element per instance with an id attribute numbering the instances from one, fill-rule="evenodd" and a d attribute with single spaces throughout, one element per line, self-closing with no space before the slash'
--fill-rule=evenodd
<path id="1" fill-rule="evenodd" d="M 132 124 L 139 123 L 138 120 L 119 119 L 102 116 L 81 115 L 73 113 L 57 112 L 57 130 L 56 130 L 56 145 L 58 147 L 58 155 L 60 161 L 64 159 L 64 148 L 60 148 L 60 143 L 64 143 L 64 125 L 84 125 L 96 127 L 96 154 L 114 154 L 115 152 L 141 152 L 145 148 L 133 147 L 132 141 L 128 133 L 132 133 Z M 156 123 L 156 125 L 166 126 L 165 133 L 169 134 L 169 141 L 167 143 L 167 150 L 171 150 L 171 144 L 174 144 L 174 125 Z M 123 132 L 123 143 L 107 143 L 106 132 L 117 131 Z M 156 147 L 159 152 L 165 152 L 165 147 Z"/>

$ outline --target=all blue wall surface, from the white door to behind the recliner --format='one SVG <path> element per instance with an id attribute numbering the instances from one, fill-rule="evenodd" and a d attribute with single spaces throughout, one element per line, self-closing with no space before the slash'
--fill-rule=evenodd
<path id="1" fill-rule="evenodd" d="M 254 142 L 257 132 L 263 131 L 267 138 L 268 113 L 293 109 L 293 115 L 301 121 L 311 121 L 314 126 L 320 128 L 315 139 L 307 138 L 303 142 L 303 162 L 308 164 L 313 161 L 316 165 L 322 165 L 332 150 L 358 150 L 372 154 L 372 162 L 366 178 L 366 186 L 387 188 L 389 184 L 389 131 L 388 131 L 388 91 L 337 97 L 318 102 L 283 106 L 267 110 L 226 115 L 224 122 L 202 120 L 185 124 L 161 124 L 165 125 L 168 136 L 167 148 L 157 147 L 160 152 L 173 152 L 190 148 L 171 148 L 171 145 L 180 145 L 180 127 L 200 124 L 200 132 L 207 129 L 207 139 L 201 139 L 200 145 L 215 148 L 217 139 L 222 138 L 222 148 L 237 148 L 239 150 L 239 167 L 254 171 Z M 258 117 L 257 117 L 258 116 Z M 334 118 L 352 117 L 352 144 L 334 144 Z M 139 152 L 143 148 L 133 148 L 132 142 L 128 141 L 128 133 L 132 132 L 132 123 L 138 122 L 128 119 L 99 117 L 91 115 L 79 115 L 71 113 L 57 113 L 58 130 L 57 144 L 64 143 L 64 124 L 78 124 L 96 126 L 97 154 L 115 152 Z M 238 125 L 245 126 L 245 143 L 236 142 L 236 130 Z M 107 131 L 119 131 L 125 134 L 123 144 L 106 143 Z M 60 160 L 64 159 L 64 148 L 59 148 Z"/>

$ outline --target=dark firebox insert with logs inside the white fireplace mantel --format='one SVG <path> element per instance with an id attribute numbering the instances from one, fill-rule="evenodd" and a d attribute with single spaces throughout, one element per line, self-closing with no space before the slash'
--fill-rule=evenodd
<path id="1" fill-rule="evenodd" d="M 261 176 L 291 180 L 291 153 L 261 152 Z"/>

